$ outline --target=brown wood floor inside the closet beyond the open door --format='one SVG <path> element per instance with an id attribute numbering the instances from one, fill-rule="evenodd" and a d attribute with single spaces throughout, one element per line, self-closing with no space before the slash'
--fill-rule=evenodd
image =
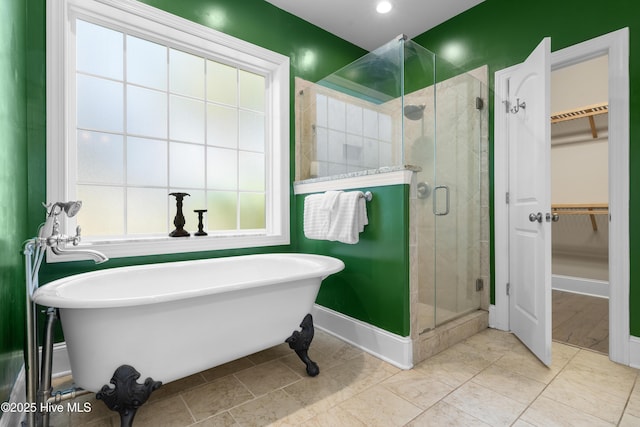
<path id="1" fill-rule="evenodd" d="M 609 300 L 553 291 L 555 341 L 609 354 Z"/>

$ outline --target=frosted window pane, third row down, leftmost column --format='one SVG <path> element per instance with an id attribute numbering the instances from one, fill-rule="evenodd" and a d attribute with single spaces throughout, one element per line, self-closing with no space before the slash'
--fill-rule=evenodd
<path id="1" fill-rule="evenodd" d="M 78 132 L 78 181 L 84 183 L 124 183 L 122 135 Z"/>

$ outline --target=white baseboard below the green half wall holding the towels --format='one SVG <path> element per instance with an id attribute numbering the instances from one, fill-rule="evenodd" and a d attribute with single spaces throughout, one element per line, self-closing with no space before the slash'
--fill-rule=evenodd
<path id="1" fill-rule="evenodd" d="M 413 367 L 411 337 L 401 337 L 329 308 L 314 305 L 313 324 L 318 329 L 391 363 L 400 369 Z"/>

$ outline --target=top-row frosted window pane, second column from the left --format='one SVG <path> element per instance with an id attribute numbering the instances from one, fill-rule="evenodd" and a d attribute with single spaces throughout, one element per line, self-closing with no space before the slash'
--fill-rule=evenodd
<path id="1" fill-rule="evenodd" d="M 127 81 L 167 89 L 167 47 L 127 36 Z"/>

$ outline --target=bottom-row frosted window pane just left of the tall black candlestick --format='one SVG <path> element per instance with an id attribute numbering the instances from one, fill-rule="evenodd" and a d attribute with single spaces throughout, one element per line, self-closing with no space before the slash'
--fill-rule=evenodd
<path id="1" fill-rule="evenodd" d="M 127 233 L 168 233 L 169 197 L 165 189 L 127 189 Z"/>

